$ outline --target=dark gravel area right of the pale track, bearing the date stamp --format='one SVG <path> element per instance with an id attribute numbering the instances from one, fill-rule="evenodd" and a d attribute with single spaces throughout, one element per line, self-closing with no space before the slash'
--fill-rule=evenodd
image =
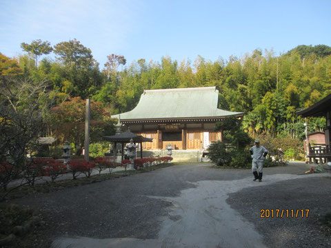
<path id="1" fill-rule="evenodd" d="M 254 224 L 268 247 L 331 247 L 331 234 L 325 234 L 318 223 L 320 216 L 331 212 L 330 192 L 330 176 L 299 177 L 245 188 L 230 194 L 227 203 Z M 261 209 L 280 209 L 279 213 L 284 209 L 285 213 L 282 218 L 281 214 L 277 218 L 276 211 L 274 218 L 260 218 Z M 286 209 L 294 209 L 294 214 Z"/>

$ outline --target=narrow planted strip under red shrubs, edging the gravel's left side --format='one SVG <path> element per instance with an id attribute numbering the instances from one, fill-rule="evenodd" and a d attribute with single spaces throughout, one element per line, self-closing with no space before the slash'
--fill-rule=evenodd
<path id="1" fill-rule="evenodd" d="M 114 178 L 120 178 L 123 176 L 131 176 L 134 174 L 140 174 L 144 172 L 150 172 L 155 169 L 161 169 L 165 167 L 172 166 L 174 164 L 172 163 L 164 163 L 161 165 L 154 165 L 152 167 L 145 167 L 145 168 L 140 168 L 134 171 L 119 171 L 119 172 L 112 172 L 111 174 L 97 174 L 90 176 L 90 178 L 82 177 L 82 178 L 77 178 L 76 180 L 72 179 L 64 179 L 64 180 L 56 180 L 53 183 L 51 182 L 45 182 L 45 183 L 37 183 L 33 186 L 22 186 L 17 189 L 14 189 L 8 196 L 6 196 L 6 199 L 14 199 L 14 198 L 21 198 L 23 196 L 26 196 L 28 194 L 35 194 L 35 193 L 48 193 L 48 192 L 54 192 L 57 190 L 65 189 L 68 187 L 77 187 L 81 185 L 87 185 L 90 183 L 98 183 L 103 180 L 111 180 Z M 0 196 L 3 196 L 5 192 L 3 189 L 0 189 Z"/>

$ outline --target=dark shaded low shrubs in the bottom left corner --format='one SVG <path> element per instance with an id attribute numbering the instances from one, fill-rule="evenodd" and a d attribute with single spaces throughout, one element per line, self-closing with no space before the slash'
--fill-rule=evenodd
<path id="1" fill-rule="evenodd" d="M 21 209 L 17 205 L 0 205 L 0 239 L 6 238 L 15 226 L 23 225 L 32 216 L 32 209 Z"/>

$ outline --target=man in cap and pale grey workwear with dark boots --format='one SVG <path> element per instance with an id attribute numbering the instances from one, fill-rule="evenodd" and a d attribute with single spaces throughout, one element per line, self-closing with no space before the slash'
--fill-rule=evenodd
<path id="1" fill-rule="evenodd" d="M 262 181 L 262 169 L 263 169 L 263 162 L 265 160 L 265 156 L 267 156 L 268 150 L 260 145 L 260 141 L 257 139 L 255 140 L 255 145 L 250 148 L 250 155 L 252 155 L 252 172 L 254 175 L 254 181 L 259 179 L 259 182 Z"/>

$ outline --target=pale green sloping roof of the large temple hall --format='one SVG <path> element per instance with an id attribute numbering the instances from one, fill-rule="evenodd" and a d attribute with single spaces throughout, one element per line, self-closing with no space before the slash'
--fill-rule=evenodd
<path id="1" fill-rule="evenodd" d="M 219 91 L 216 87 L 145 90 L 137 107 L 121 113 L 121 121 L 168 118 L 221 118 L 242 116 L 217 108 Z M 119 114 L 113 115 L 119 118 Z"/>

